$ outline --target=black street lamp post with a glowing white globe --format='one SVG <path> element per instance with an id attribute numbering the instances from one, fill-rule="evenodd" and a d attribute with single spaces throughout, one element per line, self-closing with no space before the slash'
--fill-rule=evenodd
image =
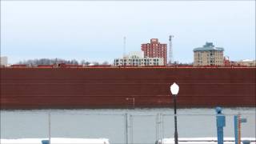
<path id="1" fill-rule="evenodd" d="M 175 144 L 178 144 L 178 130 L 177 130 L 177 104 L 176 104 L 176 98 L 178 95 L 178 90 L 179 87 L 178 85 L 174 82 L 171 86 L 170 86 L 170 92 L 173 95 L 174 98 L 174 126 L 175 126 L 175 132 L 174 132 L 174 140 L 175 140 Z"/>

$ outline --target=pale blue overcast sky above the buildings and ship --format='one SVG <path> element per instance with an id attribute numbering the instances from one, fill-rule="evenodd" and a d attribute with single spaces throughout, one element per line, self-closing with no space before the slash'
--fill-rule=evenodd
<path id="1" fill-rule="evenodd" d="M 174 35 L 174 60 L 214 42 L 231 60 L 255 59 L 254 1 L 1 1 L 1 55 L 113 62 L 141 44 Z"/>

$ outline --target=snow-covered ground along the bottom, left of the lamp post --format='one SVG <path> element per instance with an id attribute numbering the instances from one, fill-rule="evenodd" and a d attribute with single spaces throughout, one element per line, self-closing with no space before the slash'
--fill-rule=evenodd
<path id="1" fill-rule="evenodd" d="M 1 144 L 42 144 L 48 138 L 1 139 Z M 51 144 L 110 144 L 106 138 L 50 138 Z"/>

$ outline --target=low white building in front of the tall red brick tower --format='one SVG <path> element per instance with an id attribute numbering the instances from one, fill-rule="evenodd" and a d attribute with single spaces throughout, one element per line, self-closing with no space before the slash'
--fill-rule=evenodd
<path id="1" fill-rule="evenodd" d="M 124 58 L 114 59 L 114 66 L 164 66 L 164 59 L 144 58 L 143 51 L 135 51 Z"/>

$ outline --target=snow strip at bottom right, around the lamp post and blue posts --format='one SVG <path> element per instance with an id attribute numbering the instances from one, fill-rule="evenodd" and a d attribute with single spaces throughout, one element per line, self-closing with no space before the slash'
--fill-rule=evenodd
<path id="1" fill-rule="evenodd" d="M 242 138 L 250 140 L 250 144 L 256 144 L 256 138 Z M 218 144 L 217 138 L 178 138 L 178 144 Z M 174 144 L 174 138 L 163 138 L 158 144 Z M 224 138 L 224 144 L 234 144 L 234 138 Z"/>

